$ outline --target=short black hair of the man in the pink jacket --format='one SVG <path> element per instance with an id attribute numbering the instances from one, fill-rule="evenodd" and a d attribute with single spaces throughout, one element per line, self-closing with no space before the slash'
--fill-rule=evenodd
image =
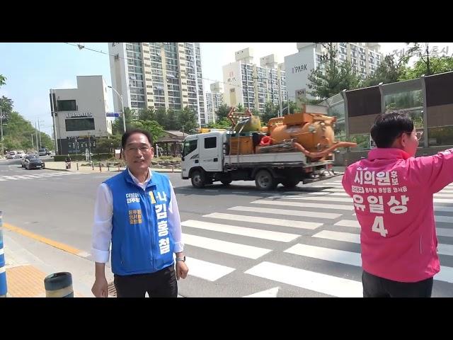
<path id="1" fill-rule="evenodd" d="M 391 147 L 402 133 L 413 131 L 413 121 L 401 111 L 378 115 L 371 128 L 371 137 L 377 147 Z"/>

